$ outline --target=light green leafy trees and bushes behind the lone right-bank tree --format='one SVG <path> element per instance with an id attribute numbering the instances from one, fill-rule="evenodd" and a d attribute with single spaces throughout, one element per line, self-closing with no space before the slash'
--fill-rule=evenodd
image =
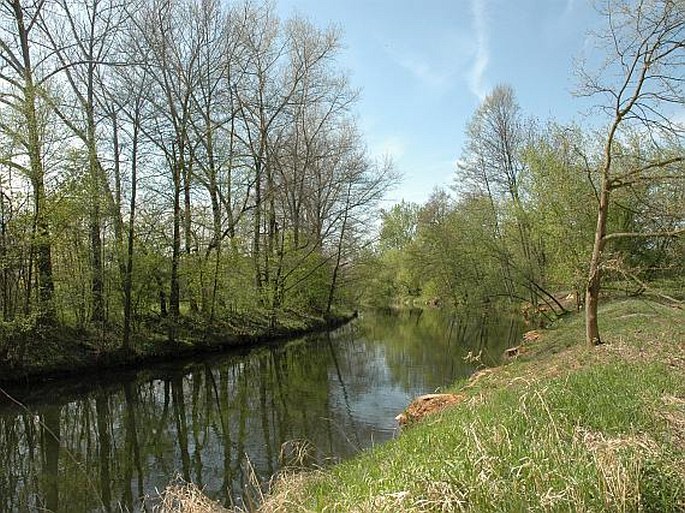
<path id="1" fill-rule="evenodd" d="M 503 171 L 495 163 L 479 167 L 472 160 L 458 171 L 456 197 L 436 191 L 420 207 L 400 203 L 385 213 L 371 285 L 376 302 L 507 298 L 551 304 L 562 313 L 551 295 L 573 292 L 580 301 L 597 222 L 596 149 L 577 126 L 532 126 L 525 139 L 517 139 L 515 181 L 509 176 L 515 195 L 500 190 Z M 471 138 L 478 134 L 468 132 Z M 469 139 L 466 155 L 480 155 L 483 143 Z M 622 165 L 638 166 L 644 151 L 639 140 L 626 145 Z M 668 156 L 682 150 L 663 151 Z M 685 214 L 683 194 L 682 183 L 673 181 L 640 181 L 617 190 L 609 233 L 677 230 Z M 677 281 L 685 265 L 683 244 L 682 236 L 612 241 L 607 278 L 631 293 L 656 279 Z"/>

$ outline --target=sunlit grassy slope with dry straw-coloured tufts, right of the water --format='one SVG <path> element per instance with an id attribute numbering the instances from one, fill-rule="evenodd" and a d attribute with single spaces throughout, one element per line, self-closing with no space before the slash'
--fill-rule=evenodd
<path id="1" fill-rule="evenodd" d="M 396 440 L 285 474 L 259 511 L 684 511 L 685 311 L 600 313 L 603 346 L 564 318 Z"/>

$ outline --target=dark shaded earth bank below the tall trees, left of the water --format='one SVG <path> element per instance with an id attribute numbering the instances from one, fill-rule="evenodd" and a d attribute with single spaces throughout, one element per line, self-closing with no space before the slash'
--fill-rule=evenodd
<path id="1" fill-rule="evenodd" d="M 173 343 L 168 340 L 164 320 L 159 319 L 157 323 L 148 322 L 133 340 L 130 350 L 121 348 L 121 337 L 114 329 L 82 331 L 60 326 L 38 327 L 27 330 L 15 340 L 0 341 L 8 346 L 7 350 L 0 351 L 0 384 L 54 380 L 102 370 L 137 369 L 202 353 L 249 348 L 335 329 L 356 316 L 356 312 L 329 317 L 291 314 L 275 325 L 266 316 L 213 324 L 183 318 Z"/>

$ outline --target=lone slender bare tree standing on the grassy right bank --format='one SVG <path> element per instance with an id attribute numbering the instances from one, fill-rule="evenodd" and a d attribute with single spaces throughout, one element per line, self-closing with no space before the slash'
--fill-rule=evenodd
<path id="1" fill-rule="evenodd" d="M 673 106 L 685 102 L 685 5 L 679 0 L 608 0 L 602 14 L 607 30 L 597 39 L 606 62 L 596 73 L 580 70 L 580 94 L 601 99 L 608 119 L 598 166 L 597 226 L 585 293 L 586 342 L 602 343 L 597 317 L 607 242 L 625 237 L 670 237 L 680 228 L 650 233 L 607 233 L 612 194 L 642 182 L 682 180 L 685 161 L 682 123 Z M 639 134 L 649 151 L 626 152 L 627 139 Z"/>

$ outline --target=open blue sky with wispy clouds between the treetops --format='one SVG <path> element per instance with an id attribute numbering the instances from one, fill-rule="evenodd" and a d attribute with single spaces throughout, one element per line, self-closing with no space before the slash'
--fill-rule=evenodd
<path id="1" fill-rule="evenodd" d="M 580 119 L 573 60 L 601 23 L 589 0 L 277 0 L 343 31 L 340 65 L 361 89 L 359 124 L 403 182 L 389 197 L 424 202 L 448 186 L 466 123 L 499 83 L 526 115 Z"/>

